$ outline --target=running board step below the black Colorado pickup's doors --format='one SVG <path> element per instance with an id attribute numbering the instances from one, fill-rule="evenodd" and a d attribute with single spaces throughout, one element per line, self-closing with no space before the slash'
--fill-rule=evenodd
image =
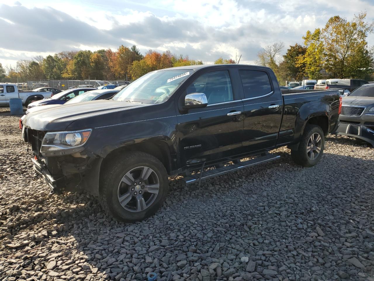
<path id="1" fill-rule="evenodd" d="M 245 169 L 245 168 L 248 168 L 248 167 L 251 167 L 251 166 L 255 166 L 257 164 L 267 163 L 267 162 L 270 162 L 270 161 L 274 161 L 278 158 L 281 158 L 281 156 L 276 155 L 276 154 L 267 154 L 267 155 L 259 156 L 257 158 L 254 158 L 254 159 L 251 159 L 251 160 L 248 160 L 248 161 L 240 162 L 239 164 L 231 164 L 231 165 L 228 165 L 228 166 L 223 166 L 223 167 L 215 168 L 215 169 L 212 169 L 212 170 L 207 170 L 207 171 L 202 173 L 201 180 L 212 178 L 214 176 L 224 175 L 226 173 L 230 173 L 230 172 L 234 172 L 234 171 L 237 171 L 237 170 Z M 183 178 L 183 181 L 186 182 L 186 184 L 193 184 L 193 183 L 199 182 L 200 181 L 200 173 L 186 176 L 186 177 Z"/>

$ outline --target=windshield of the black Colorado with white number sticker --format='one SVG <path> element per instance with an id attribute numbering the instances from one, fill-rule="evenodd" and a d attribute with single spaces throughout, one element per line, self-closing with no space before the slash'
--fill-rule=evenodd
<path id="1" fill-rule="evenodd" d="M 192 73 L 191 69 L 153 71 L 120 90 L 112 99 L 147 104 L 162 103 Z"/>

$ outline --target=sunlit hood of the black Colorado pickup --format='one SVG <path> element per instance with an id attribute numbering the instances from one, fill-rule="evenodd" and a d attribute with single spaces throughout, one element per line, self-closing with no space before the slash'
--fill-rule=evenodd
<path id="1" fill-rule="evenodd" d="M 30 112 L 25 116 L 22 123 L 28 128 L 41 131 L 65 130 L 77 120 L 87 120 L 86 124 L 88 127 L 95 127 L 99 126 L 103 120 L 108 123 L 113 119 L 111 118 L 111 113 L 144 106 L 150 105 L 115 100 L 93 100 Z M 43 108 L 44 106 L 40 107 Z M 116 115 L 118 116 L 118 114 Z M 116 121 L 113 120 L 113 122 Z"/>

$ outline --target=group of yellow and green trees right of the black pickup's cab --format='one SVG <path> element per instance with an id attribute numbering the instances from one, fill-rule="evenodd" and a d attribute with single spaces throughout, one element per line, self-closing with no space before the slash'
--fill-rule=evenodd
<path id="1" fill-rule="evenodd" d="M 284 44 L 276 42 L 258 53 L 256 64 L 271 67 L 280 84 L 285 81 L 326 78 L 359 78 L 373 80 L 374 48 L 367 36 L 374 23 L 365 22 L 366 12 L 352 21 L 331 17 L 324 28 L 308 30 L 303 45 L 289 46 L 281 55 Z"/>

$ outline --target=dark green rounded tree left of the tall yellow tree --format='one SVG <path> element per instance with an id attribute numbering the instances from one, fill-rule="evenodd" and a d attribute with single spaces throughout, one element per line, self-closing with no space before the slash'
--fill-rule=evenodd
<path id="1" fill-rule="evenodd" d="M 286 71 L 286 76 L 291 79 L 299 81 L 303 79 L 305 72 L 305 64 L 297 64 L 300 56 L 305 55 L 306 47 L 296 43 L 295 45 L 289 46 L 286 54 L 283 55 L 284 67 Z"/>

